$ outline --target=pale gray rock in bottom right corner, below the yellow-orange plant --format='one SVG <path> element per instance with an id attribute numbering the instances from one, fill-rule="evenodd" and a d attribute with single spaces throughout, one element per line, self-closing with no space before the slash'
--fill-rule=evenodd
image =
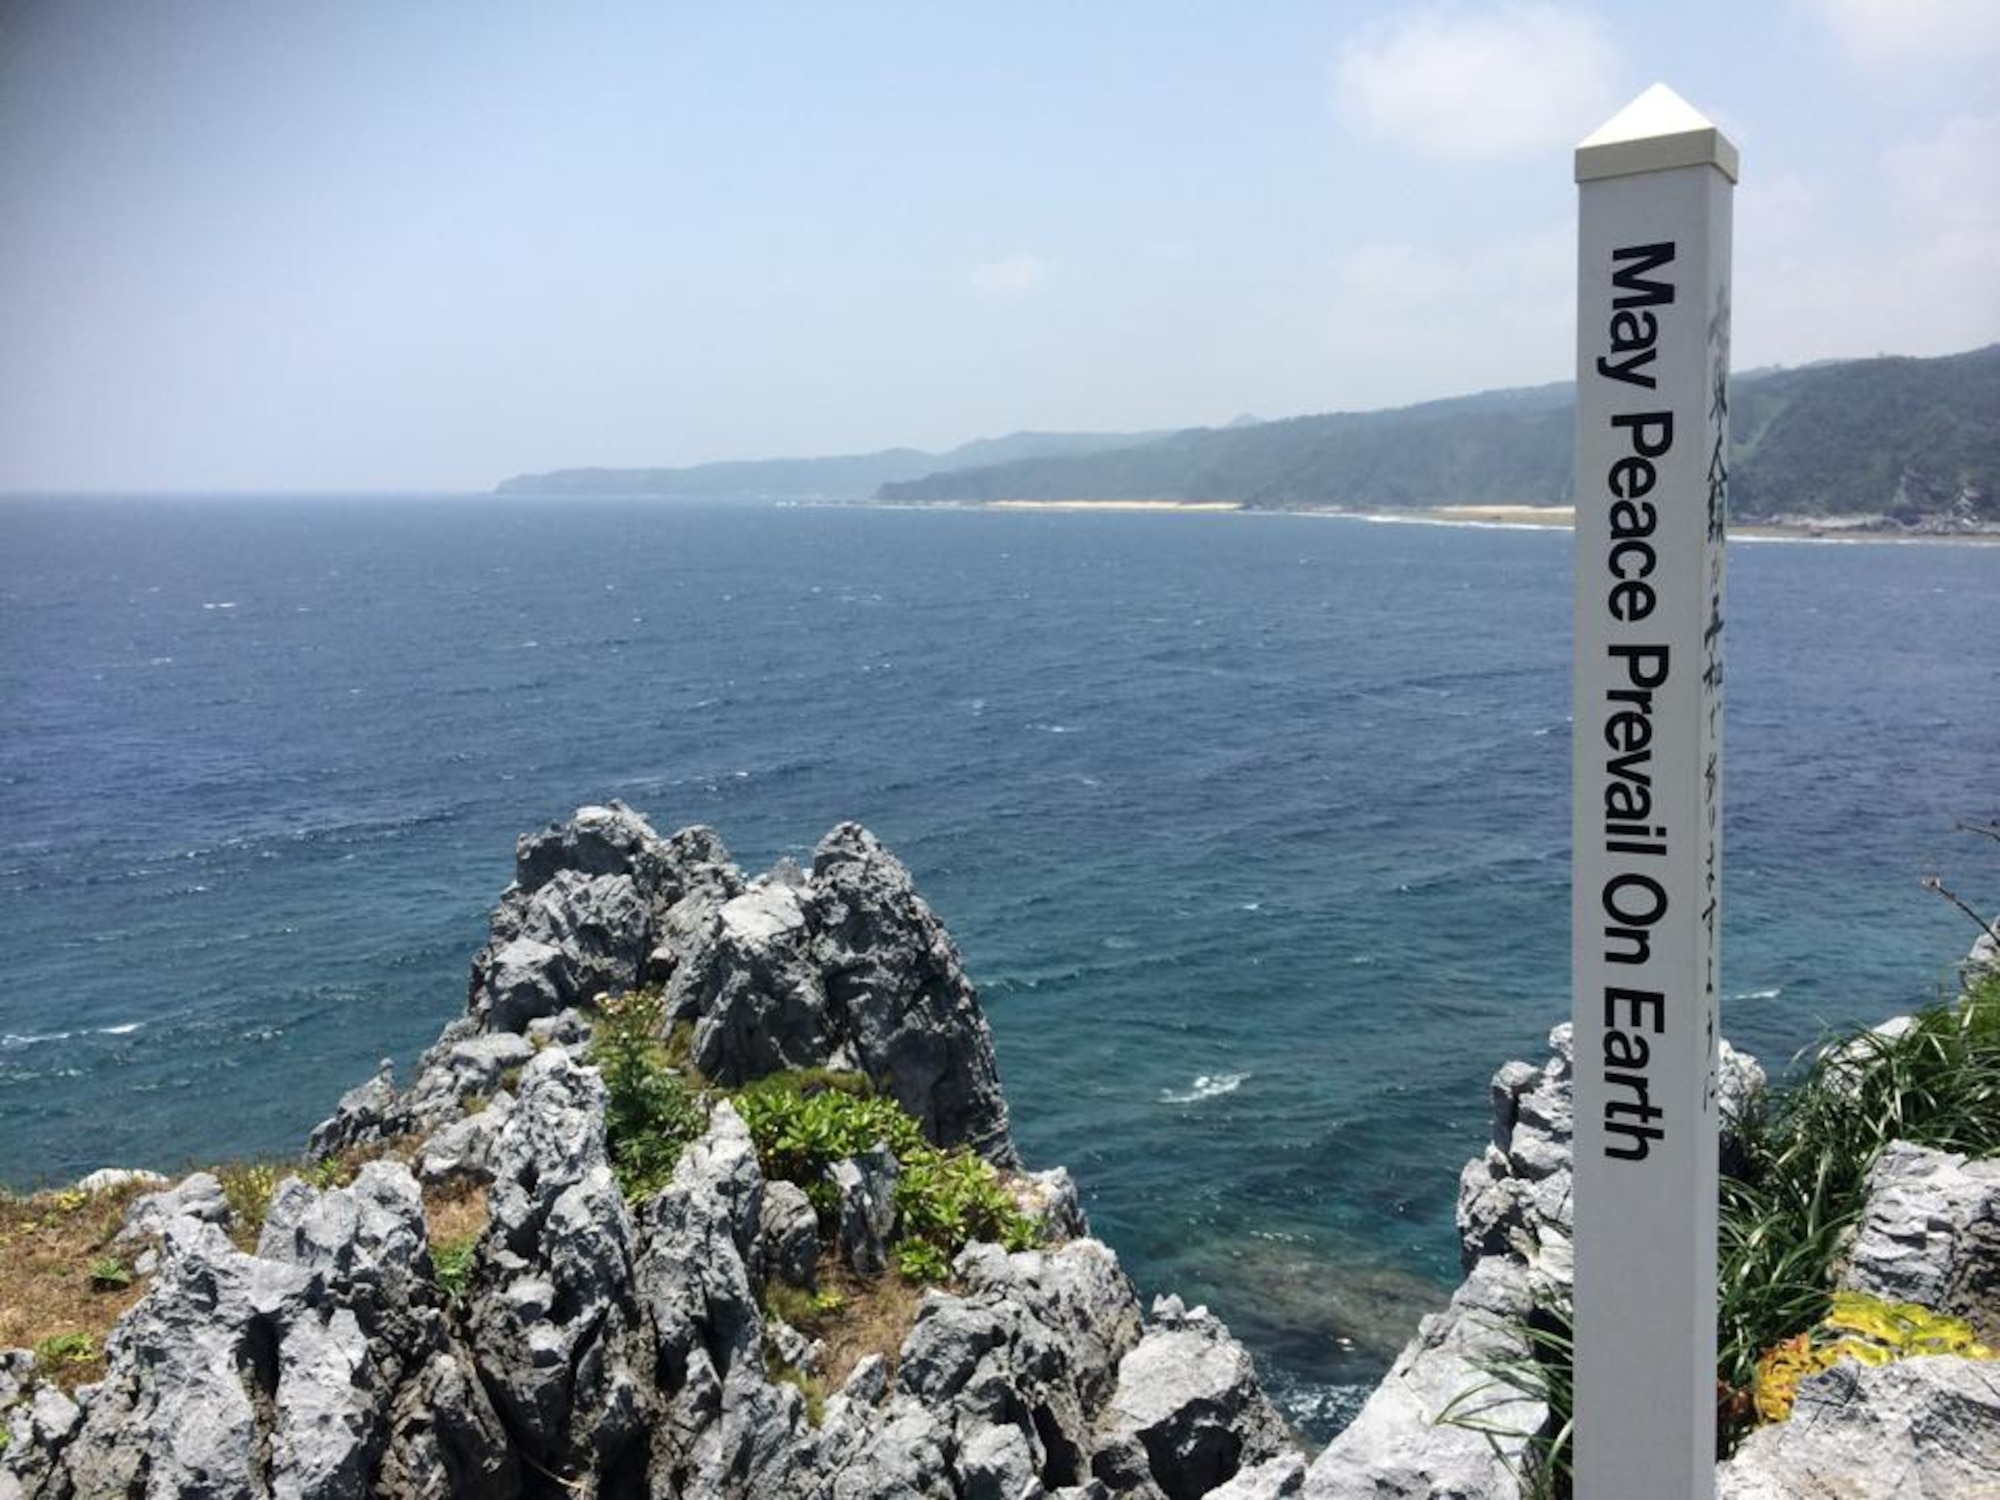
<path id="1" fill-rule="evenodd" d="M 1974 1500 L 2000 1492 L 2000 1364 L 1848 1360 L 1716 1468 L 1718 1500 Z"/>

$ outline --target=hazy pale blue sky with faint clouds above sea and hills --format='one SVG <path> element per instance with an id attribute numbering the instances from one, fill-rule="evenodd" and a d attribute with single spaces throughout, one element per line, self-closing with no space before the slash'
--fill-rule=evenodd
<path id="1" fill-rule="evenodd" d="M 486 488 L 1570 374 L 1570 148 L 1738 368 L 2000 340 L 2000 2 L 0 0 L 0 490 Z"/>

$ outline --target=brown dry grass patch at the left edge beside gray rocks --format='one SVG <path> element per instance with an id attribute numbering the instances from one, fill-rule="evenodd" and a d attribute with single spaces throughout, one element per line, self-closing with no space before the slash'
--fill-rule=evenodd
<path id="1" fill-rule="evenodd" d="M 104 1340 L 146 1294 L 132 1258 L 112 1248 L 126 1206 L 154 1188 L 52 1188 L 0 1194 L 0 1348 L 32 1348 L 42 1374 L 72 1388 L 104 1376 Z"/>

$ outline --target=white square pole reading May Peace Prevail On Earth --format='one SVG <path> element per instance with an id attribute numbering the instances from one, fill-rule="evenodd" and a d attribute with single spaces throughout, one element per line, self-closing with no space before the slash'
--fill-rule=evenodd
<path id="1" fill-rule="evenodd" d="M 1736 148 L 1656 84 L 1576 182 L 1576 1494 L 1706 1500 Z"/>

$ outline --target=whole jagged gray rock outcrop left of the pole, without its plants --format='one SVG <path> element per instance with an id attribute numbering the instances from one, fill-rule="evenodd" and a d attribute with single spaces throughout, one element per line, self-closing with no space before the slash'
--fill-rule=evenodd
<path id="1" fill-rule="evenodd" d="M 932 1142 L 1014 1162 L 974 990 L 866 830 L 744 880 L 704 830 L 586 808 L 520 842 L 466 1014 L 410 1086 L 384 1066 L 314 1132 L 318 1158 L 378 1160 L 342 1188 L 284 1180 L 254 1250 L 214 1178 L 136 1198 L 128 1248 L 156 1272 L 106 1378 L 72 1398 L 0 1354 L 0 1500 L 1298 1490 L 1248 1352 L 1172 1298 L 1148 1322 L 1060 1168 L 1004 1176 L 1040 1248 L 968 1246 L 900 1338 L 808 1398 L 824 1346 L 766 1302 L 840 1262 L 886 1274 L 898 1160 L 838 1162 L 822 1226 L 722 1098 L 628 1202 L 590 1026 L 596 994 L 636 984 L 710 1078 L 860 1070 Z M 434 1244 L 434 1202 L 482 1220 Z"/>

